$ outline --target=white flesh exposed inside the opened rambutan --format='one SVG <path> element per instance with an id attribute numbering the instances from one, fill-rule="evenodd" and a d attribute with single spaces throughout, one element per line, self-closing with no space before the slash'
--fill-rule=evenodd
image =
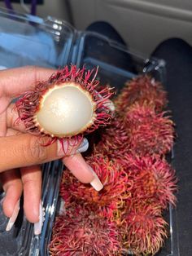
<path id="1" fill-rule="evenodd" d="M 55 86 L 41 99 L 35 121 L 52 136 L 77 135 L 92 125 L 94 103 L 89 92 L 73 82 Z"/>

